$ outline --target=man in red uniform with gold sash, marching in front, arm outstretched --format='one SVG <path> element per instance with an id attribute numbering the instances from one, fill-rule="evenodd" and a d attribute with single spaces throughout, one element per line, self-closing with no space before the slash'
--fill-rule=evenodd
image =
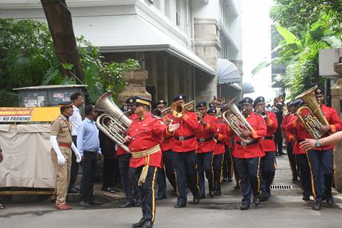
<path id="1" fill-rule="evenodd" d="M 171 137 L 179 124 L 170 123 L 167 127 L 160 118 L 150 114 L 152 101 L 137 96 L 135 114 L 138 118 L 130 124 L 125 137 L 132 153 L 130 175 L 138 185 L 138 195 L 142 208 L 142 219 L 133 227 L 150 228 L 155 221 L 155 181 L 157 168 L 162 167 L 162 137 Z"/>

